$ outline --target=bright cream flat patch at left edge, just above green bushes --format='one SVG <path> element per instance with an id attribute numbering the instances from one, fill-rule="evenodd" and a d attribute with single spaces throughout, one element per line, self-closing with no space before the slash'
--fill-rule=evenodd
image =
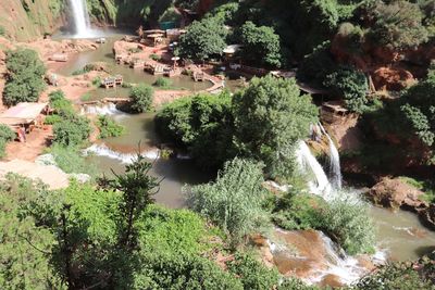
<path id="1" fill-rule="evenodd" d="M 66 188 L 70 184 L 69 175 L 58 167 L 53 165 L 39 165 L 24 160 L 0 162 L 0 178 L 4 178 L 8 173 L 40 180 L 53 190 Z"/>

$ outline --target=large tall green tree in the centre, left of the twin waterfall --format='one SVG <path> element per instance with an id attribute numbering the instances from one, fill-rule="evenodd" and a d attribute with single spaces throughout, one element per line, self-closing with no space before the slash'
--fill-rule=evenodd
<path id="1" fill-rule="evenodd" d="M 236 146 L 262 161 L 272 177 L 288 178 L 294 169 L 294 144 L 318 121 L 310 96 L 300 96 L 295 79 L 271 75 L 253 78 L 233 97 Z"/>

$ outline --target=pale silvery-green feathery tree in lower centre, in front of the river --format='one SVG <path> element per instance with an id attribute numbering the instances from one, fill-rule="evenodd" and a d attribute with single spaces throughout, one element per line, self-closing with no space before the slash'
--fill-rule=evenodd
<path id="1" fill-rule="evenodd" d="M 268 225 L 262 209 L 268 197 L 262 187 L 261 166 L 234 159 L 224 165 L 214 182 L 195 186 L 187 192 L 187 204 L 231 235 L 234 245 Z"/>

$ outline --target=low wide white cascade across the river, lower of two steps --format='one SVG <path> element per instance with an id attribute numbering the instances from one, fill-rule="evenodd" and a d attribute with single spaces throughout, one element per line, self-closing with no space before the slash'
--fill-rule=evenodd
<path id="1" fill-rule="evenodd" d="M 109 147 L 107 147 L 105 144 L 92 144 L 91 147 L 85 149 L 84 153 L 87 155 L 95 154 L 98 156 L 105 156 L 109 159 L 117 160 L 124 164 L 132 164 L 137 156 L 136 153 L 116 152 L 116 151 L 110 149 Z M 156 159 L 159 159 L 159 156 L 160 156 L 160 152 L 158 149 L 145 151 L 141 154 L 149 160 L 156 160 Z"/>

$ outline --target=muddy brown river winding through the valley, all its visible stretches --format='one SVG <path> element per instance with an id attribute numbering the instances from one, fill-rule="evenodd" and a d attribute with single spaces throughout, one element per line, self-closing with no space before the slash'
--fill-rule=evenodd
<path id="1" fill-rule="evenodd" d="M 112 74 L 122 74 L 127 83 L 152 84 L 156 76 L 116 65 L 113 59 L 112 46 L 123 34 L 107 35 L 108 41 L 96 51 L 83 52 L 72 58 L 58 73 L 71 75 L 74 71 L 83 68 L 87 63 L 105 62 Z M 190 91 L 199 91 L 208 88 L 210 84 L 195 83 L 187 76 L 171 79 L 176 88 L 185 88 Z M 228 80 L 231 90 L 236 90 L 239 81 Z M 127 89 L 117 90 L 94 90 L 92 98 L 125 97 Z M 111 175 L 111 171 L 122 173 L 125 162 L 137 152 L 140 142 L 140 151 L 146 152 L 150 162 L 153 162 L 151 174 L 161 179 L 159 192 L 156 200 L 170 207 L 183 207 L 185 205 L 182 188 L 185 185 L 207 182 L 214 177 L 210 173 L 198 169 L 191 160 L 179 159 L 156 159 L 159 138 L 153 126 L 153 113 L 129 115 L 122 112 L 113 112 L 112 117 L 126 127 L 126 134 L 108 138 L 94 144 L 90 151 L 89 162 L 95 163 L 99 169 Z M 357 194 L 357 193 L 356 193 Z M 377 247 L 387 253 L 394 261 L 413 260 L 422 254 L 434 250 L 435 232 L 425 229 L 413 213 L 398 211 L 396 213 L 385 209 L 372 207 L 371 215 L 377 227 Z"/>

